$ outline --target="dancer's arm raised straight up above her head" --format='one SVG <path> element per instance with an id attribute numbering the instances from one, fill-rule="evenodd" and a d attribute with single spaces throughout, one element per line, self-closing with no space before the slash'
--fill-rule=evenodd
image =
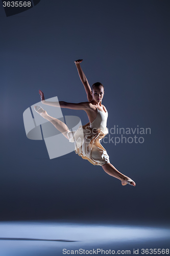
<path id="1" fill-rule="evenodd" d="M 77 67 L 77 70 L 78 70 L 78 73 L 79 73 L 79 76 L 80 76 L 80 79 L 83 83 L 83 86 L 84 86 L 84 89 L 86 91 L 86 94 L 87 94 L 87 99 L 88 101 L 91 101 L 92 100 L 92 96 L 91 96 L 91 88 L 89 86 L 89 83 L 88 83 L 88 80 L 80 66 L 80 63 L 82 62 L 82 59 L 78 59 L 75 61 L 75 64 L 76 64 L 76 67 Z"/>

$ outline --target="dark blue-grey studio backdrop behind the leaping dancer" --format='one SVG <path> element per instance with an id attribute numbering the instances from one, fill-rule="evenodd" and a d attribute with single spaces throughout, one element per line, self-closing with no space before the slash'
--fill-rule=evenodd
<path id="1" fill-rule="evenodd" d="M 1 5 L 0 220 L 169 223 L 169 7 L 165 0 L 41 0 L 6 17 Z M 105 86 L 109 129 L 151 128 L 142 144 L 103 143 L 136 187 L 75 152 L 50 160 L 44 141 L 26 137 L 22 114 L 40 100 L 39 89 L 46 98 L 86 101 L 79 58 L 90 85 Z M 83 111 L 62 113 L 88 122 Z"/>

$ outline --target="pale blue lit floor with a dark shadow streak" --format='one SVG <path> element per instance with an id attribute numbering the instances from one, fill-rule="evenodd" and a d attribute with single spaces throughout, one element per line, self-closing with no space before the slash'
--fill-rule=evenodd
<path id="1" fill-rule="evenodd" d="M 169 227 L 0 222 L 1 256 L 167 255 L 169 247 Z"/>

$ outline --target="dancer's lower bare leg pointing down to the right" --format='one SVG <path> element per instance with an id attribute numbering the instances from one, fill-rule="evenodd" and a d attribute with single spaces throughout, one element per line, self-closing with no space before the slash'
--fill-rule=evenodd
<path id="1" fill-rule="evenodd" d="M 119 179 L 120 181 L 122 181 L 122 185 L 126 185 L 128 183 L 133 186 L 136 185 L 133 180 L 131 180 L 129 177 L 125 176 L 124 174 L 120 173 L 111 163 L 106 163 L 102 165 L 102 168 L 108 175 L 113 176 Z"/>

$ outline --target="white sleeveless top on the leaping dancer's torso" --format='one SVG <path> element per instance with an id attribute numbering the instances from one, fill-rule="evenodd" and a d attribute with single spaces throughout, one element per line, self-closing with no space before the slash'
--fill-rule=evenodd
<path id="1" fill-rule="evenodd" d="M 104 112 L 99 110 L 98 108 L 96 108 L 98 110 L 98 114 L 95 118 L 95 120 L 90 123 L 90 128 L 91 129 L 99 129 L 101 130 L 103 133 L 106 132 L 106 126 L 107 126 L 107 118 L 108 118 L 108 112 Z"/>

